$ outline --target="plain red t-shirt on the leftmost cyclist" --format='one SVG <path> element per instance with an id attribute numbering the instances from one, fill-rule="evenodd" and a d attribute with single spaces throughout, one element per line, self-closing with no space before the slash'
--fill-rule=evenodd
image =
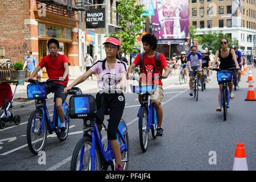
<path id="1" fill-rule="evenodd" d="M 40 61 L 39 66 L 41 68 L 46 67 L 46 71 L 50 79 L 59 79 L 59 77 L 63 77 L 65 72 L 64 63 L 68 63 L 68 65 L 70 65 L 68 57 L 58 53 L 55 60 L 51 58 L 51 55 L 44 56 Z M 65 79 L 66 80 L 63 82 L 60 81 L 56 83 L 66 87 L 68 84 L 68 75 Z"/>

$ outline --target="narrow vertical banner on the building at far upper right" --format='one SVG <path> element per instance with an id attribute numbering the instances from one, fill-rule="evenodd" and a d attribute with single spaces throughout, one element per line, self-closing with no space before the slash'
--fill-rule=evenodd
<path id="1" fill-rule="evenodd" d="M 232 27 L 241 27 L 241 0 L 232 1 Z"/>

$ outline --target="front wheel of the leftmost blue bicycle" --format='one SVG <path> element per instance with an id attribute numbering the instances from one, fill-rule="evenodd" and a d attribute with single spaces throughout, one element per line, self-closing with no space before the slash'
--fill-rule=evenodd
<path id="1" fill-rule="evenodd" d="M 27 144 L 30 151 L 38 155 L 38 152 L 44 149 L 47 139 L 46 118 L 42 121 L 42 110 L 36 109 L 30 114 L 27 123 Z M 41 131 L 43 124 L 43 131 Z"/>

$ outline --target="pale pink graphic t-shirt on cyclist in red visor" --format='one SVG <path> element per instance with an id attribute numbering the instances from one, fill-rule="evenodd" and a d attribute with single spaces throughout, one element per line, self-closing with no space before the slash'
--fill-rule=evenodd
<path id="1" fill-rule="evenodd" d="M 103 63 L 105 63 L 105 69 L 102 69 Z M 127 67 L 123 61 L 117 59 L 113 69 L 108 67 L 106 61 L 97 61 L 90 67 L 90 70 L 92 70 L 94 74 L 98 74 L 98 89 L 104 90 L 114 88 L 114 86 L 120 82 L 121 73 L 123 71 L 127 72 Z"/>

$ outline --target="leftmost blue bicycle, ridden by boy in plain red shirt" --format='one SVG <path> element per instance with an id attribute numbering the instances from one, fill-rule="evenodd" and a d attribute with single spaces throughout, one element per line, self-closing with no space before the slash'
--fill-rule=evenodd
<path id="1" fill-rule="evenodd" d="M 30 151 L 38 155 L 38 152 L 44 149 L 47 140 L 47 129 L 49 134 L 56 133 L 57 138 L 64 141 L 68 137 L 69 131 L 69 115 L 68 104 L 63 102 L 63 109 L 65 114 L 65 127 L 67 133 L 64 138 L 59 137 L 60 118 L 57 115 L 56 107 L 53 110 L 53 121 L 49 117 L 46 98 L 47 98 L 47 84 L 52 81 L 60 81 L 57 79 L 49 79 L 45 82 L 37 80 L 28 80 L 31 84 L 27 85 L 27 96 L 29 99 L 35 100 L 36 109 L 32 111 L 27 123 L 27 144 Z"/>

